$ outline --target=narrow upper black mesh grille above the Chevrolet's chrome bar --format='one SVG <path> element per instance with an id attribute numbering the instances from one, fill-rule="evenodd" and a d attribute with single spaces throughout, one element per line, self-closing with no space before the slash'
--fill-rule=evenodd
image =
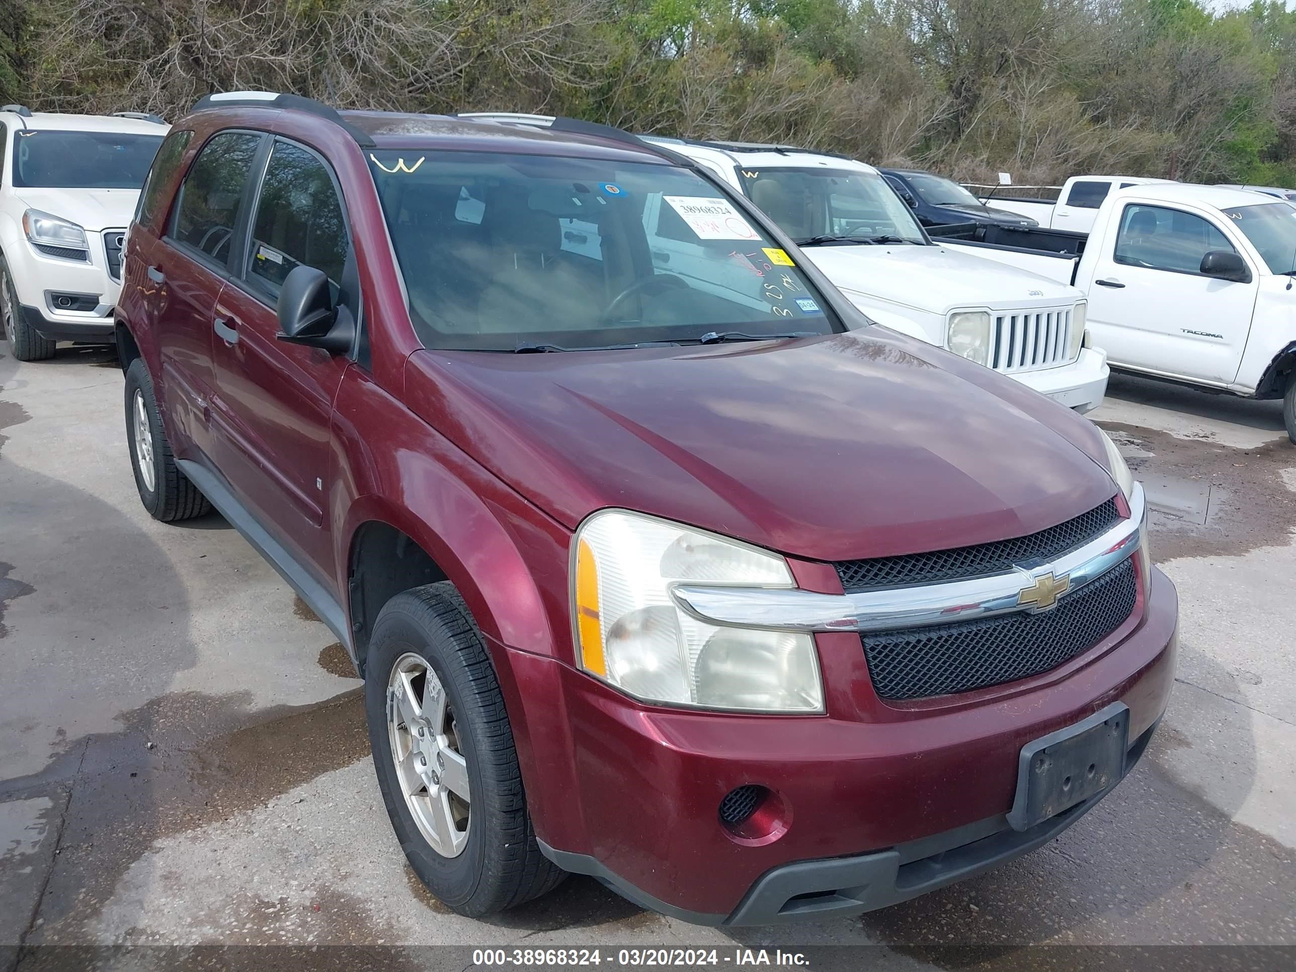
<path id="1" fill-rule="evenodd" d="M 842 560 L 835 566 L 837 577 L 841 578 L 841 586 L 846 588 L 848 594 L 874 587 L 899 587 L 1006 574 L 1012 570 L 1013 564 L 1056 560 L 1067 551 L 1111 530 L 1120 520 L 1121 515 L 1116 509 L 1116 499 L 1112 498 L 1100 507 L 1081 513 L 1074 520 L 1050 526 L 1028 537 L 929 553 Z"/>

